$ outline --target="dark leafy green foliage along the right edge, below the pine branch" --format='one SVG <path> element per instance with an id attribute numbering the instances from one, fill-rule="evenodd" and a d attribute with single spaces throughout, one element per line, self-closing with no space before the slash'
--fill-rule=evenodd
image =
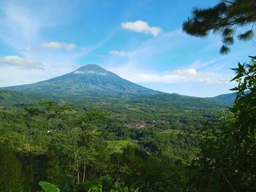
<path id="1" fill-rule="evenodd" d="M 192 164 L 192 187 L 198 191 L 255 191 L 256 61 L 238 64 L 235 105 L 217 126 L 202 130 L 200 153 Z"/>

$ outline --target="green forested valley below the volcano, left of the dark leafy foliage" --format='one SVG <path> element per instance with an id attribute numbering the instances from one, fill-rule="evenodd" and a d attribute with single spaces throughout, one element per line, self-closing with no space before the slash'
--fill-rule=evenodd
<path id="1" fill-rule="evenodd" d="M 181 191 L 184 165 L 196 150 L 195 133 L 227 107 L 165 93 L 58 98 L 0 91 L 0 96 L 0 145 L 7 142 L 20 164 L 18 176 L 3 182 L 19 180 L 23 191 L 38 191 L 39 180 L 61 190 L 89 191 L 85 183 L 102 175 L 110 176 L 108 183 L 91 191 Z"/>

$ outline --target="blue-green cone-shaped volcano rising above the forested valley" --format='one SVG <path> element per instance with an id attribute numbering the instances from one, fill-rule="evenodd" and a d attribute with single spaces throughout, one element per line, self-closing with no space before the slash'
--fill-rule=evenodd
<path id="1" fill-rule="evenodd" d="M 113 95 L 138 96 L 160 93 L 124 80 L 101 66 L 86 65 L 75 72 L 64 74 L 50 80 L 29 85 L 18 85 L 1 90 L 20 91 L 23 93 L 43 93 L 56 96 Z"/>

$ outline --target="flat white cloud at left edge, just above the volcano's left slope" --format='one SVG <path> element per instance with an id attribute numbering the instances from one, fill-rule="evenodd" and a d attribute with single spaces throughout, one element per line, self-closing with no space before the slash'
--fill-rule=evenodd
<path id="1" fill-rule="evenodd" d="M 0 65 L 17 66 L 20 69 L 44 69 L 43 64 L 31 58 L 21 58 L 17 55 L 7 55 L 0 58 Z"/>

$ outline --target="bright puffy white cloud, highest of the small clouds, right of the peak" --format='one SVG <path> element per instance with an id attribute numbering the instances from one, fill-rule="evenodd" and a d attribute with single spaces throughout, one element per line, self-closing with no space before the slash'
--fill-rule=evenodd
<path id="1" fill-rule="evenodd" d="M 153 36 L 159 35 L 162 31 L 162 28 L 159 28 L 157 26 L 149 26 L 148 23 L 143 20 L 136 20 L 135 22 L 124 22 L 121 23 L 121 27 L 129 31 L 151 34 Z"/>

